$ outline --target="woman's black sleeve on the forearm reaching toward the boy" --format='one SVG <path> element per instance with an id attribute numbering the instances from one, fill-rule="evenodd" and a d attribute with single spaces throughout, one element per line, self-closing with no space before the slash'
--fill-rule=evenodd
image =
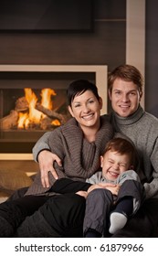
<path id="1" fill-rule="evenodd" d="M 65 194 L 65 193 L 76 193 L 79 190 L 87 191 L 91 186 L 90 183 L 82 182 L 82 181 L 74 181 L 68 178 L 60 178 L 58 179 L 54 185 L 51 187 L 51 191 Z"/>

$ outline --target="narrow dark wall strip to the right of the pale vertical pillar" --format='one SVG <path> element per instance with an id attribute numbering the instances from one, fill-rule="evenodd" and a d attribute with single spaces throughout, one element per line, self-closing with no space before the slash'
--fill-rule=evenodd
<path id="1" fill-rule="evenodd" d="M 145 109 L 158 117 L 158 2 L 146 0 Z"/>

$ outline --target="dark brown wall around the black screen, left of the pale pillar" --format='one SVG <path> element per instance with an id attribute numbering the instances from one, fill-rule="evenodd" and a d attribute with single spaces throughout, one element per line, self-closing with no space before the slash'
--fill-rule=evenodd
<path id="1" fill-rule="evenodd" d="M 0 64 L 106 64 L 113 69 L 124 63 L 126 1 L 92 2 L 90 32 L 1 31 Z"/>

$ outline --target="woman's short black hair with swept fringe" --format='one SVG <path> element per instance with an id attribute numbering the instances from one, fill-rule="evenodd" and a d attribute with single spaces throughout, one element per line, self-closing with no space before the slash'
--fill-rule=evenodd
<path id="1" fill-rule="evenodd" d="M 75 96 L 81 95 L 85 91 L 92 91 L 96 98 L 98 100 L 100 99 L 97 86 L 94 83 L 90 82 L 89 80 L 75 80 L 68 86 L 68 105 L 71 106 L 71 102 L 74 100 Z"/>

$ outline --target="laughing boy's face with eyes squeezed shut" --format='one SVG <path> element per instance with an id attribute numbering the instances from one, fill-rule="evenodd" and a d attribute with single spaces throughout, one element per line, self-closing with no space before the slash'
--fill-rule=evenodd
<path id="1" fill-rule="evenodd" d="M 107 151 L 100 158 L 102 176 L 109 180 L 115 180 L 121 173 L 132 168 L 129 155 L 121 155 L 118 152 Z"/>

